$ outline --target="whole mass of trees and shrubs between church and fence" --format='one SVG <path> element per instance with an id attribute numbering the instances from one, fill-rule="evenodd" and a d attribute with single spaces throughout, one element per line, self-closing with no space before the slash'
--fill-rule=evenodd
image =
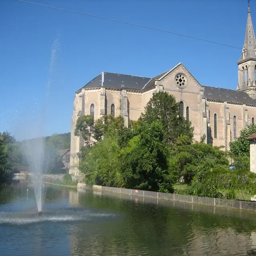
<path id="1" fill-rule="evenodd" d="M 111 115 L 96 120 L 93 132 L 88 126 L 84 117 L 76 129 L 94 138 L 79 154 L 87 184 L 172 192 L 183 178 L 188 188 L 179 193 L 226 199 L 238 193 L 256 195 L 256 175 L 249 171 L 248 157 L 240 154 L 230 170 L 223 147 L 205 144 L 206 135 L 193 142 L 191 123 L 179 116 L 178 103 L 166 92 L 154 94 L 145 113 L 129 127 L 124 127 L 123 117 Z M 240 152 L 248 153 L 245 138 L 253 132 L 251 126 L 241 142 L 247 151 Z"/>

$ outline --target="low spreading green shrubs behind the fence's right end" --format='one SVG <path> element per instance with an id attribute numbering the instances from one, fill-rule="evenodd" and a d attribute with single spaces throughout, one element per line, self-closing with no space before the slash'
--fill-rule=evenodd
<path id="1" fill-rule="evenodd" d="M 201 158 L 195 169 L 191 186 L 183 191 L 186 195 L 236 199 L 238 193 L 256 195 L 256 174 L 243 168 L 229 170 L 216 156 Z"/>

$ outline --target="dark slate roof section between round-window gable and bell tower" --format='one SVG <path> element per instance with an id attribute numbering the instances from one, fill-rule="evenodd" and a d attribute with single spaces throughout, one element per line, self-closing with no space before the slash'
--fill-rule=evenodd
<path id="1" fill-rule="evenodd" d="M 207 99 L 256 105 L 256 100 L 246 92 L 211 86 L 204 86 L 204 88 L 204 95 Z"/>

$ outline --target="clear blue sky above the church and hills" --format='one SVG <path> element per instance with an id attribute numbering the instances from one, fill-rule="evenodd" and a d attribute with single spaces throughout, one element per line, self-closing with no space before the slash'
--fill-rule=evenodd
<path id="1" fill-rule="evenodd" d="M 31 2 L 241 48 L 248 8 L 247 0 Z M 182 62 L 203 85 L 238 83 L 240 49 L 16 0 L 0 0 L 0 24 L 0 131 L 17 139 L 69 132 L 76 90 L 102 71 L 153 77 Z"/>

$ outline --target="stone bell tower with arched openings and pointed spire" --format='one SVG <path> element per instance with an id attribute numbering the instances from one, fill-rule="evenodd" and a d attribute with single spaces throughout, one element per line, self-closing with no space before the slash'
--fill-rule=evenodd
<path id="1" fill-rule="evenodd" d="M 256 39 L 252 27 L 250 7 L 248 7 L 244 46 L 238 61 L 237 90 L 247 92 L 251 98 L 256 98 Z"/>

